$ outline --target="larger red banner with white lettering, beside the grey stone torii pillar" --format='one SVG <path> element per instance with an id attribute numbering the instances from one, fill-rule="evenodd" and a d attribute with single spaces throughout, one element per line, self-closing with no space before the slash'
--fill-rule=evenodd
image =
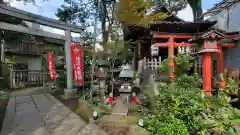
<path id="1" fill-rule="evenodd" d="M 82 48 L 80 44 L 71 45 L 71 56 L 74 80 L 78 82 L 78 84 L 82 85 L 84 75 L 83 75 Z"/>

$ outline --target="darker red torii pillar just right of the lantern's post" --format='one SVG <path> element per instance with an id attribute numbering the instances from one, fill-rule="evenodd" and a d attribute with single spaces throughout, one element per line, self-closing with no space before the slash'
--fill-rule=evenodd
<path id="1" fill-rule="evenodd" d="M 217 42 L 217 48 L 219 51 L 216 54 L 217 55 L 217 71 L 218 71 L 218 75 L 220 75 L 224 73 L 224 63 L 223 63 L 222 47 L 219 44 L 219 42 Z M 219 88 L 224 87 L 224 80 L 219 77 L 218 81 L 219 81 Z"/>

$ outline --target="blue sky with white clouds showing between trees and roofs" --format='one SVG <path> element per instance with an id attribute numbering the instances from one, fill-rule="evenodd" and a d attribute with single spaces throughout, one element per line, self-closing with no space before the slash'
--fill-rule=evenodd
<path id="1" fill-rule="evenodd" d="M 5 0 L 5 1 L 10 1 L 11 6 L 16 7 L 18 9 L 22 9 L 34 14 L 46 16 L 49 18 L 57 19 L 55 16 L 55 12 L 57 11 L 57 8 L 59 8 L 63 3 L 64 0 L 48 0 L 43 2 L 42 0 L 36 0 L 36 5 L 34 6 L 32 4 L 24 4 L 23 2 L 19 2 L 16 0 Z M 211 8 L 214 6 L 214 4 L 219 3 L 222 0 L 202 0 L 202 7 L 203 11 L 205 12 L 207 9 Z M 192 15 L 192 10 L 190 6 L 187 6 L 186 9 L 180 11 L 178 13 L 178 16 L 186 21 L 192 21 L 193 20 L 193 15 Z M 50 29 L 47 28 L 47 31 Z M 54 33 L 59 33 L 63 34 L 64 32 L 58 29 L 51 29 L 50 31 Z"/>

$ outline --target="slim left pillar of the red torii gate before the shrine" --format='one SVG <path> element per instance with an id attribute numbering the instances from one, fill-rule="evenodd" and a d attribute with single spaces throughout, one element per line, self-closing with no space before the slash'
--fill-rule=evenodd
<path id="1" fill-rule="evenodd" d="M 171 87 L 173 86 L 173 83 L 174 83 L 174 60 L 173 60 L 173 57 L 174 57 L 174 38 L 173 37 L 170 37 L 168 39 L 168 57 L 170 57 L 170 61 L 168 63 L 169 65 L 169 69 L 170 69 L 170 72 L 169 72 L 169 78 L 171 79 Z"/>

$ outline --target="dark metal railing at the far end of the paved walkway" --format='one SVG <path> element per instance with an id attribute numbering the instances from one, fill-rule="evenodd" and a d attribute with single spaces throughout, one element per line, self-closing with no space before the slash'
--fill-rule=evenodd
<path id="1" fill-rule="evenodd" d="M 47 71 L 40 70 L 13 70 L 10 71 L 10 88 L 24 88 L 31 86 L 43 86 L 43 83 L 49 81 Z"/>

